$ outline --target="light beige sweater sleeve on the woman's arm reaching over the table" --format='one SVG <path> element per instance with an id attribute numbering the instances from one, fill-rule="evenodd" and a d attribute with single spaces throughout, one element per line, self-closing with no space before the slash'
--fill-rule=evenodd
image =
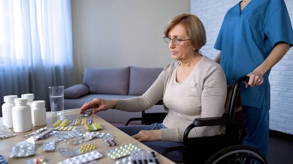
<path id="1" fill-rule="evenodd" d="M 144 111 L 154 106 L 163 98 L 163 91 L 164 71 L 159 74 L 156 81 L 143 95 L 127 99 L 114 99 L 117 101 L 114 109 L 130 112 Z"/>

